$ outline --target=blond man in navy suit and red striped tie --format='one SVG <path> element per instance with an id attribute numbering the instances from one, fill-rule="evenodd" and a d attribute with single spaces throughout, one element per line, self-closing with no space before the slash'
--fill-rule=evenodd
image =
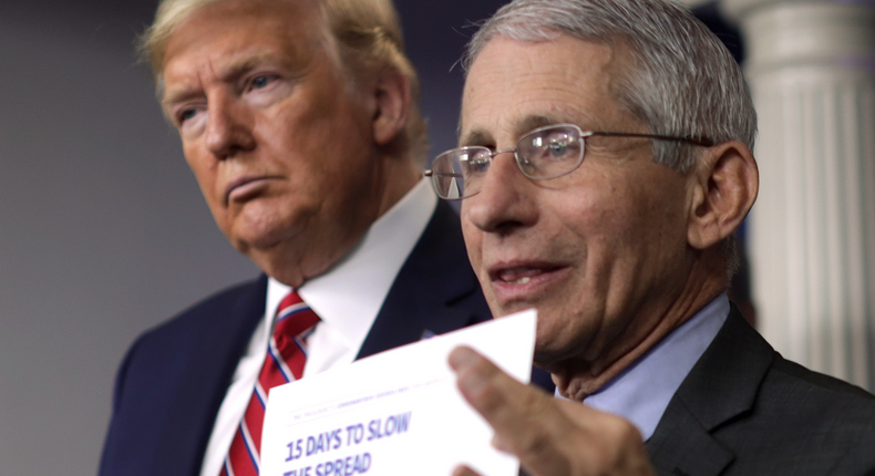
<path id="1" fill-rule="evenodd" d="M 164 0 L 142 45 L 216 224 L 265 275 L 134 343 L 100 474 L 257 474 L 274 377 L 491 314 L 421 179 L 391 0 Z"/>

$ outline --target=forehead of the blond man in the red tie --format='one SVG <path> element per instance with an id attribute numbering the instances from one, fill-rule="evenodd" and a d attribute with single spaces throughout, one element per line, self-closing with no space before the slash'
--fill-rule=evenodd
<path id="1" fill-rule="evenodd" d="M 165 82 L 193 70 L 223 68 L 272 58 L 297 61 L 321 42 L 322 20 L 312 0 L 226 0 L 195 11 L 167 40 Z"/>

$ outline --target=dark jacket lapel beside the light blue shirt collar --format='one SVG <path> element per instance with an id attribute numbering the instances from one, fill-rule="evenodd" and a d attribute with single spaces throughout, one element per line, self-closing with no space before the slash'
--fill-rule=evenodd
<path id="1" fill-rule="evenodd" d="M 721 474 L 734 459 L 712 433 L 751 411 L 774 351 L 732 309 L 647 442 L 660 475 Z"/>

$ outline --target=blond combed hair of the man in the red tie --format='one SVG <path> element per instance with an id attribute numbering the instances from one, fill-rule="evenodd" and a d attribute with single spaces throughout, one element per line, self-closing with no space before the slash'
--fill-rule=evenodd
<path id="1" fill-rule="evenodd" d="M 187 19 L 207 6 L 228 0 L 162 0 L 155 21 L 141 35 L 137 49 L 148 63 L 153 77 L 163 87 L 167 42 Z M 272 0 L 300 1 L 300 0 Z M 420 112 L 420 81 L 410 59 L 404 53 L 401 22 L 392 0 L 312 0 L 322 14 L 326 46 L 329 55 L 354 87 L 366 77 L 395 71 L 410 84 L 411 111 L 405 135 L 411 155 L 425 162 L 428 135 Z"/>

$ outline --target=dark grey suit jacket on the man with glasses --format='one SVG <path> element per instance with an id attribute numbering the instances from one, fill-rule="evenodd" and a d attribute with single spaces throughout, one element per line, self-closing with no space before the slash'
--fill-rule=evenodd
<path id="1" fill-rule="evenodd" d="M 875 397 L 784 360 L 733 306 L 647 449 L 660 475 L 875 475 Z"/>

